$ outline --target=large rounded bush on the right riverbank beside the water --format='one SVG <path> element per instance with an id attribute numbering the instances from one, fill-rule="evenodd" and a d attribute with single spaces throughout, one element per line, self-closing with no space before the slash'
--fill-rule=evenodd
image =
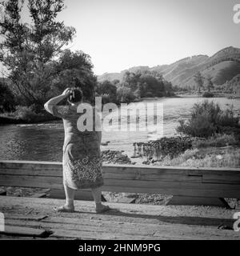
<path id="1" fill-rule="evenodd" d="M 222 111 L 214 102 L 196 103 L 187 121 L 179 121 L 177 131 L 194 137 L 208 138 L 222 133 L 224 127 L 238 127 L 238 118 L 234 118 L 233 109 Z"/>

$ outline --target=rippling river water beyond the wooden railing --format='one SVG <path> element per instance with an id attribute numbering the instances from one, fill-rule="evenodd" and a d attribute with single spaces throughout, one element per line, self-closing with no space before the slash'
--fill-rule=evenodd
<path id="1" fill-rule="evenodd" d="M 176 134 L 176 127 L 180 118 L 190 117 L 194 103 L 203 98 L 161 98 L 155 100 L 163 103 L 163 131 L 165 136 Z M 153 102 L 144 101 L 144 102 Z M 225 109 L 233 105 L 236 114 L 240 114 L 240 100 L 214 98 L 214 102 Z M 133 154 L 134 142 L 146 142 L 156 139 L 156 132 L 103 132 L 102 142 L 110 141 L 102 150 L 124 150 L 126 154 Z M 0 159 L 31 160 L 31 161 L 61 161 L 64 131 L 62 122 L 47 122 L 33 125 L 0 126 Z"/>

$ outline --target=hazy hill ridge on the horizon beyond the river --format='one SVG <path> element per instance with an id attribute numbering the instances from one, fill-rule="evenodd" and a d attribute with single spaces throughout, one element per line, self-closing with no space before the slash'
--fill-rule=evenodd
<path id="1" fill-rule="evenodd" d="M 172 82 L 174 86 L 181 87 L 193 87 L 195 85 L 194 74 L 200 71 L 203 77 L 210 76 L 215 85 L 222 85 L 240 74 L 240 49 L 230 46 L 219 50 L 211 57 L 196 55 L 183 58 L 170 65 L 153 67 L 135 66 L 128 71 L 135 72 L 137 70 L 157 70 L 162 73 L 167 81 Z M 98 76 L 98 81 L 113 81 L 114 79 L 121 81 L 126 71 L 102 74 Z"/>

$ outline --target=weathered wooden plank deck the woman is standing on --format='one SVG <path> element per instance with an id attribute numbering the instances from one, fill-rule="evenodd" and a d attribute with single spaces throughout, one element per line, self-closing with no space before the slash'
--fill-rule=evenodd
<path id="1" fill-rule="evenodd" d="M 112 210 L 94 212 L 94 202 L 76 201 L 75 212 L 56 213 L 62 199 L 0 196 L 5 215 L 1 239 L 240 239 L 233 214 L 210 206 L 150 206 L 106 203 Z"/>

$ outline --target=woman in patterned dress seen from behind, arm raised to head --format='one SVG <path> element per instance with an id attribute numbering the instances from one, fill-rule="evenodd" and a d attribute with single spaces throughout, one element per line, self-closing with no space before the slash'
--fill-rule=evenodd
<path id="1" fill-rule="evenodd" d="M 62 105 L 66 99 L 70 106 Z M 82 90 L 67 88 L 62 95 L 51 98 L 44 105 L 50 114 L 62 118 L 65 130 L 62 166 L 66 204 L 57 210 L 73 212 L 75 190 L 90 188 L 94 196 L 96 212 L 102 213 L 110 209 L 101 202 L 103 178 L 100 144 L 102 134 L 95 130 L 78 130 L 77 122 L 82 114 L 77 113 L 77 109 L 80 104 L 83 104 L 83 99 Z M 84 100 L 84 102 L 87 101 Z M 95 115 L 95 110 L 93 113 Z M 94 116 L 92 118 L 94 122 Z"/>

